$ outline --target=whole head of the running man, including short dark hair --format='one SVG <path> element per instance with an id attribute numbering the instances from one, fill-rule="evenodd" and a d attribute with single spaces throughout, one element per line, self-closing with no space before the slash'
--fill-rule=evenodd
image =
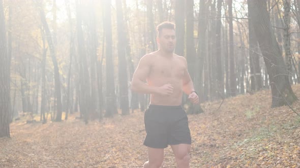
<path id="1" fill-rule="evenodd" d="M 157 43 L 160 50 L 171 53 L 175 49 L 176 36 L 175 24 L 171 22 L 163 22 L 157 26 Z"/>

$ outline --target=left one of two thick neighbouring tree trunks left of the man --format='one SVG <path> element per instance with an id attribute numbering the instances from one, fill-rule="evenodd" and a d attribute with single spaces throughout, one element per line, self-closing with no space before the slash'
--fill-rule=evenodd
<path id="1" fill-rule="evenodd" d="M 105 117 L 111 117 L 117 113 L 116 96 L 114 86 L 113 54 L 112 54 L 112 30 L 111 30 L 111 0 L 104 1 L 104 29 L 105 29 L 105 58 L 106 58 L 106 113 Z"/>

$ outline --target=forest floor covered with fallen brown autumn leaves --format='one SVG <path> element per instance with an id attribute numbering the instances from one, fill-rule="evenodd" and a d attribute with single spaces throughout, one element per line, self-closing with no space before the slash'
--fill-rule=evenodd
<path id="1" fill-rule="evenodd" d="M 293 86 L 300 98 L 300 85 Z M 188 115 L 191 167 L 300 167 L 300 117 L 288 106 L 271 109 L 271 91 L 201 104 Z M 300 101 L 292 108 L 300 113 Z M 0 167 L 142 167 L 147 160 L 143 112 L 84 124 L 67 121 L 11 124 L 0 139 Z M 170 147 L 162 167 L 176 167 Z"/>

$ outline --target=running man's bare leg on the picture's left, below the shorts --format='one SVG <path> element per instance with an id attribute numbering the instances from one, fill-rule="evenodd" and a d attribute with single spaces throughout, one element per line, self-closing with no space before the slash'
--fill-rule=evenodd
<path id="1" fill-rule="evenodd" d="M 148 147 L 149 160 L 144 163 L 143 168 L 159 168 L 164 160 L 164 149 Z"/>

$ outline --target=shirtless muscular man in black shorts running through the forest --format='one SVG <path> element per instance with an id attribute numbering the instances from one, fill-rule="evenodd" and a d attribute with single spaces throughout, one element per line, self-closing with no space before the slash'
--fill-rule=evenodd
<path id="1" fill-rule="evenodd" d="M 143 167 L 160 167 L 164 148 L 170 145 L 178 167 L 187 168 L 191 134 L 187 114 L 181 106 L 182 96 L 183 92 L 186 93 L 194 104 L 199 103 L 199 98 L 186 59 L 173 53 L 175 25 L 163 22 L 157 26 L 157 31 L 159 50 L 140 59 L 131 83 L 132 91 L 151 94 L 144 116 L 147 133 L 144 145 L 148 147 L 149 158 Z"/>

